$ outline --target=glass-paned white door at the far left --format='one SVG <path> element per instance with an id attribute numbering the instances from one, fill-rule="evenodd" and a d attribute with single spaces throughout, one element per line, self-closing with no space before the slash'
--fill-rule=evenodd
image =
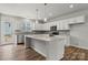
<path id="1" fill-rule="evenodd" d="M 12 43 L 12 22 L 1 21 L 1 44 Z"/>

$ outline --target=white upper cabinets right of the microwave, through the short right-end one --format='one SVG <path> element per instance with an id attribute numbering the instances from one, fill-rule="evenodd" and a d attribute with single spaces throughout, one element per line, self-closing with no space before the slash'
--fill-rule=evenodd
<path id="1" fill-rule="evenodd" d="M 56 24 L 58 30 L 70 30 L 69 24 L 84 23 L 84 22 L 85 22 L 85 15 L 80 15 L 71 19 L 57 21 Z"/>

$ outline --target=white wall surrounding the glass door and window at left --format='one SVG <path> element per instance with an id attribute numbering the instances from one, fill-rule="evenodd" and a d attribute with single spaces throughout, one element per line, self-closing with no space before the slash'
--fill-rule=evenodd
<path id="1" fill-rule="evenodd" d="M 26 20 L 27 19 L 25 19 L 25 18 L 20 18 L 20 17 L 12 17 L 12 15 L 7 15 L 7 14 L 1 14 L 1 17 L 0 17 L 0 23 L 3 23 L 3 22 L 9 22 L 9 23 L 11 23 L 11 29 L 12 29 L 12 37 L 11 37 L 11 43 L 14 43 L 16 42 L 16 30 L 20 30 L 20 31 L 22 31 L 22 32 L 25 32 L 25 28 L 26 26 L 23 26 L 23 23 L 26 22 Z M 33 28 L 35 25 L 33 25 L 33 22 L 32 21 L 28 21 L 30 24 L 31 24 L 31 28 Z M 1 42 L 2 42 L 2 44 L 3 43 L 6 43 L 6 39 L 4 39 L 4 31 L 3 31 L 3 25 L 2 24 L 0 24 L 0 26 L 2 26 L 1 28 L 1 33 L 0 33 L 0 36 L 1 36 Z M 23 41 L 23 37 L 21 36 L 20 37 L 20 41 L 22 42 Z M 7 43 L 9 43 L 9 42 L 7 42 Z"/>

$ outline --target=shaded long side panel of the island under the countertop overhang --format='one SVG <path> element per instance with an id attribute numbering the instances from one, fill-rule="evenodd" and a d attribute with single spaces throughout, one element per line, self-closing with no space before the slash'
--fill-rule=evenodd
<path id="1" fill-rule="evenodd" d="M 48 42 L 32 39 L 31 47 L 46 57 L 47 56 L 46 43 L 48 43 Z"/>

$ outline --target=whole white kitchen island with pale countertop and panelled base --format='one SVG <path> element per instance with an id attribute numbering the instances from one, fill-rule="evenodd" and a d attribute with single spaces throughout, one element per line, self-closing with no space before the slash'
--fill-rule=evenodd
<path id="1" fill-rule="evenodd" d="M 25 47 L 32 47 L 43 55 L 47 61 L 58 61 L 63 57 L 65 36 L 49 36 L 49 34 L 25 35 Z"/>

